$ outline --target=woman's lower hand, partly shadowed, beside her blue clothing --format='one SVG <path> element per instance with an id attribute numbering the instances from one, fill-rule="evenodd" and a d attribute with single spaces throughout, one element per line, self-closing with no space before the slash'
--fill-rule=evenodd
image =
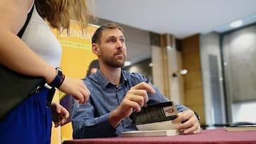
<path id="1" fill-rule="evenodd" d="M 61 126 L 69 117 L 68 111 L 58 103 L 52 103 L 50 105 L 52 120 L 55 124 L 55 128 Z"/>

